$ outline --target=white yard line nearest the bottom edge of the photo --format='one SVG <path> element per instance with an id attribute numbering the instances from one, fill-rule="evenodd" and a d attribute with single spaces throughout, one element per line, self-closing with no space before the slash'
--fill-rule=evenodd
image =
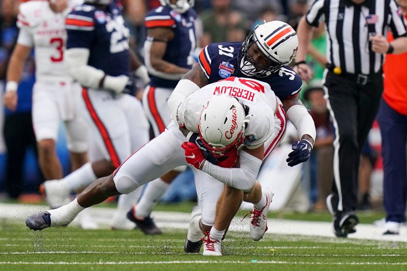
<path id="1" fill-rule="evenodd" d="M 407 265 L 407 262 L 299 262 L 299 261 L 131 261 L 131 262 L 0 262 L 2 265 L 7 264 L 44 264 L 44 265 L 115 265 L 115 264 L 198 264 L 198 263 L 229 263 L 229 264 L 256 264 L 256 263 L 274 263 L 274 264 L 307 264 L 307 265 Z"/>

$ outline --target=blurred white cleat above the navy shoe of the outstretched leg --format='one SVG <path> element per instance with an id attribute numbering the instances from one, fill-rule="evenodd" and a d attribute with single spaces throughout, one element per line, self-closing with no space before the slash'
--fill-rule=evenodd
<path id="1" fill-rule="evenodd" d="M 71 190 L 59 179 L 46 180 L 40 185 L 40 193 L 45 196 L 45 201 L 51 209 L 56 209 L 68 204 Z"/>

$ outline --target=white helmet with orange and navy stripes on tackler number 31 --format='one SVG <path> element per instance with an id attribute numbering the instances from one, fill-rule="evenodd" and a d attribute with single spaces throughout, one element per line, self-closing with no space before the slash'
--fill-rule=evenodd
<path id="1" fill-rule="evenodd" d="M 255 44 L 275 65 L 265 67 L 255 61 L 248 52 Z M 298 37 L 293 27 L 282 21 L 257 25 L 243 42 L 239 52 L 240 70 L 248 76 L 266 77 L 288 65 L 298 49 Z"/>

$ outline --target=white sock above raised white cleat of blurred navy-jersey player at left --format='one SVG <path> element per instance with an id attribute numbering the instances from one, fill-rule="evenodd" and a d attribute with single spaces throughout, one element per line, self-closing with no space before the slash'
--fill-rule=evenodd
<path id="1" fill-rule="evenodd" d="M 92 164 L 88 162 L 64 177 L 62 182 L 65 182 L 72 192 L 76 192 L 88 187 L 90 184 L 95 182 L 96 179 L 97 177 L 95 172 L 93 172 Z"/>

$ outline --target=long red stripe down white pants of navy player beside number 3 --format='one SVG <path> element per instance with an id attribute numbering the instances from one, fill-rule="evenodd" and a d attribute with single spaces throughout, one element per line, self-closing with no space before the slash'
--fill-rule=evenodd
<path id="1" fill-rule="evenodd" d="M 89 114 L 91 115 L 93 122 L 95 123 L 100 134 L 102 135 L 102 139 L 105 143 L 107 152 L 109 153 L 113 166 L 114 167 L 120 166 L 120 159 L 119 159 L 119 156 L 118 156 L 116 150 L 114 149 L 113 142 L 110 139 L 110 136 L 106 130 L 106 127 L 103 125 L 98 114 L 96 113 L 96 110 L 93 107 L 91 100 L 89 99 L 88 89 L 85 87 L 83 87 L 83 89 L 82 89 L 82 97 L 83 97 L 83 100 L 85 101 L 86 108 L 88 108 Z"/>

